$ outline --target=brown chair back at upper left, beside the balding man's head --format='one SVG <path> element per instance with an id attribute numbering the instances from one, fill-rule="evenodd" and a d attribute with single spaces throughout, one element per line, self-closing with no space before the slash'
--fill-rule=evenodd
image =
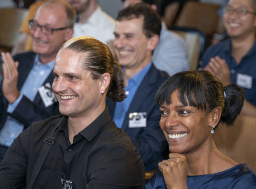
<path id="1" fill-rule="evenodd" d="M 0 9 L 0 50 L 10 52 L 18 41 L 19 28 L 28 9 L 2 8 Z"/>

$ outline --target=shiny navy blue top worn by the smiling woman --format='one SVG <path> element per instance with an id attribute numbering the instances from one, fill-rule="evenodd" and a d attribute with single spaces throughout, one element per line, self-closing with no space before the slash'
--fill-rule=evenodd
<path id="1" fill-rule="evenodd" d="M 187 185 L 188 189 L 256 189 L 255 175 L 246 164 L 238 164 L 219 173 L 188 176 Z M 161 171 L 152 176 L 145 188 L 167 189 Z"/>

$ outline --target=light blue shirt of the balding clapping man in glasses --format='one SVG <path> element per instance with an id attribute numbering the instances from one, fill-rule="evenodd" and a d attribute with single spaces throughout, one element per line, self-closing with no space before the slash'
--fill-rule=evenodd
<path id="1" fill-rule="evenodd" d="M 23 96 L 31 101 L 35 99 L 35 96 L 38 93 L 38 88 L 44 84 L 44 81 L 52 73 L 54 62 L 55 60 L 47 64 L 41 64 L 39 62 L 39 55 L 35 56 L 33 67 L 20 90 L 20 96 L 14 103 L 9 103 L 7 108 L 8 113 L 12 113 L 15 110 Z M 14 138 L 16 138 L 23 130 L 24 125 L 22 123 L 11 116 L 7 116 L 7 120 L 0 131 L 0 145 L 9 147 L 11 143 L 13 143 Z"/>

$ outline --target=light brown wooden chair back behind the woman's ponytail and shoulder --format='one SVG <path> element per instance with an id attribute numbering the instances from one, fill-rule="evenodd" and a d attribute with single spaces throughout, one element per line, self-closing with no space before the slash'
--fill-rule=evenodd
<path id="1" fill-rule="evenodd" d="M 256 118 L 239 115 L 234 126 L 218 125 L 214 132 L 218 149 L 237 163 L 256 171 Z"/>

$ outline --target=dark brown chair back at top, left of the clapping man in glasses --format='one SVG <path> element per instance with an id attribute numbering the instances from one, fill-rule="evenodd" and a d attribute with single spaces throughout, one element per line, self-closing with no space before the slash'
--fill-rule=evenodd
<path id="1" fill-rule="evenodd" d="M 183 6 L 174 26 L 201 29 L 210 44 L 218 25 L 217 11 L 220 5 L 188 1 Z"/>

